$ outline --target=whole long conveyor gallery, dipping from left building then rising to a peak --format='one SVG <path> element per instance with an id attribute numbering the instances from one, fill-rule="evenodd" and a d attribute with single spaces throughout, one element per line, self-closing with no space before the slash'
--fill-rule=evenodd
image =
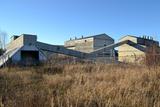
<path id="1" fill-rule="evenodd" d="M 113 48 L 119 47 L 119 46 L 124 45 L 124 44 L 128 44 L 128 45 L 130 45 L 130 46 L 132 46 L 132 47 L 134 47 L 134 48 L 136 48 L 140 51 L 143 51 L 143 52 L 146 51 L 145 47 L 142 47 L 141 45 L 136 44 L 136 43 L 134 43 L 130 40 L 125 40 L 125 41 L 121 41 L 121 42 L 118 42 L 118 43 L 115 43 L 115 44 L 111 44 L 111 45 L 102 47 L 100 49 L 97 49 L 97 50 L 95 50 L 91 53 L 83 53 L 83 52 L 67 49 L 63 46 L 50 45 L 50 44 L 46 44 L 46 43 L 42 43 L 42 42 L 37 42 L 36 47 L 40 50 L 43 50 L 43 51 L 50 51 L 50 52 L 54 52 L 54 53 L 74 56 L 74 57 L 77 57 L 77 58 L 86 58 L 87 59 L 87 58 L 95 57 L 99 53 L 103 53 L 104 50 L 113 49 Z"/>

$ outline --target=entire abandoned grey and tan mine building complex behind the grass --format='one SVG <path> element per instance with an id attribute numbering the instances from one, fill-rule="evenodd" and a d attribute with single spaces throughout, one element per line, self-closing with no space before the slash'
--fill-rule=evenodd
<path id="1" fill-rule="evenodd" d="M 32 65 L 46 61 L 52 54 L 63 54 L 81 59 L 109 62 L 140 62 L 148 47 L 159 42 L 149 37 L 124 36 L 117 43 L 106 34 L 70 39 L 61 45 L 37 41 L 36 35 L 14 35 L 0 57 L 0 66 L 11 64 Z M 118 47 L 118 55 L 115 49 Z"/>

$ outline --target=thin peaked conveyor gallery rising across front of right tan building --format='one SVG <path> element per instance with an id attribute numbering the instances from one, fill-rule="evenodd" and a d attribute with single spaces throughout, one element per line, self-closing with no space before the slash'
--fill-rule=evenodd
<path id="1" fill-rule="evenodd" d="M 111 45 L 102 47 L 102 48 L 100 48 L 100 49 L 97 49 L 97 50 L 89 53 L 89 54 L 86 55 L 85 57 L 87 57 L 87 58 L 96 57 L 97 54 L 103 53 L 104 50 L 113 49 L 113 48 L 119 47 L 119 46 L 124 45 L 124 44 L 128 44 L 128 45 L 130 45 L 130 46 L 132 46 L 132 47 L 134 47 L 134 48 L 136 48 L 136 49 L 138 49 L 138 50 L 140 50 L 140 51 L 142 51 L 142 52 L 145 52 L 145 51 L 146 51 L 146 48 L 145 48 L 145 47 L 143 47 L 143 46 L 141 46 L 141 45 L 139 45 L 139 44 L 136 44 L 136 43 L 134 43 L 134 42 L 132 42 L 132 41 L 130 41 L 130 40 L 125 40 L 125 41 L 121 41 L 121 42 L 118 42 L 118 43 L 115 43 L 115 44 L 111 44 Z"/>

